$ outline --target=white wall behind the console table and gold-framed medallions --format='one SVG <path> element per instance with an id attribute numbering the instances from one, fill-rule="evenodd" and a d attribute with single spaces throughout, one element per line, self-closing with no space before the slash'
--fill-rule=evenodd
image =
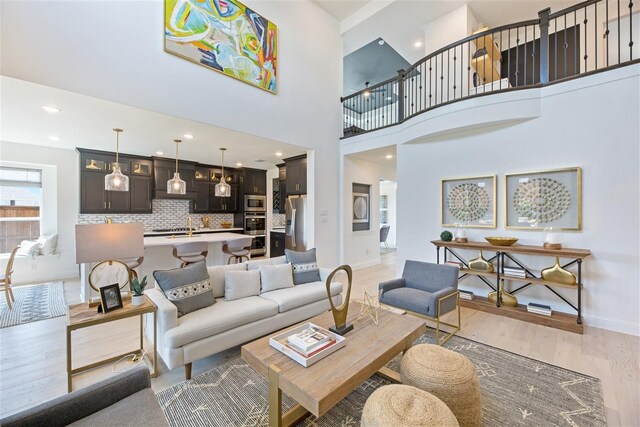
<path id="1" fill-rule="evenodd" d="M 585 323 L 639 335 L 638 93 L 640 66 L 625 67 L 541 89 L 537 119 L 399 145 L 398 271 L 406 259 L 436 259 L 429 241 L 437 239 L 442 231 L 442 177 L 498 175 L 498 229 L 471 230 L 471 240 L 508 235 L 518 237 L 523 244 L 539 245 L 542 232 L 503 228 L 504 174 L 580 166 L 583 230 L 564 233 L 564 243 L 567 247 L 588 248 L 593 254 L 583 264 Z M 498 99 L 508 104 L 508 98 Z M 470 110 L 482 116 L 486 108 L 475 104 Z M 460 114 L 464 111 L 449 114 L 452 128 Z M 394 137 L 399 141 L 401 135 L 402 131 Z M 413 135 L 407 139 L 413 139 Z M 477 253 L 466 255 L 475 257 Z M 533 268 L 553 263 L 552 259 L 522 258 Z M 489 288 L 472 280 L 475 279 L 465 279 L 461 287 L 486 294 Z M 576 301 L 576 292 L 561 291 Z M 559 311 L 570 310 L 541 287 L 526 290 L 518 298 L 525 303 L 530 299 L 548 303 Z"/>

